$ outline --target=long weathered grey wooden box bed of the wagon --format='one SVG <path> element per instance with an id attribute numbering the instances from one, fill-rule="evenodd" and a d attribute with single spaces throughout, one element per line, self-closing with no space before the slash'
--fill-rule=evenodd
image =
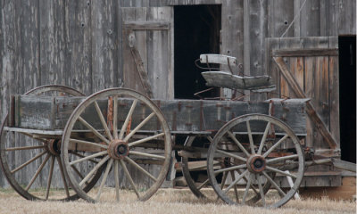
<path id="1" fill-rule="evenodd" d="M 47 135 L 62 135 L 67 120 L 72 111 L 85 100 L 86 97 L 61 97 L 14 95 L 12 96 L 11 117 L 9 127 L 23 128 L 30 133 Z M 242 101 L 210 101 L 210 100 L 153 100 L 160 108 L 170 127 L 172 134 L 211 134 L 218 131 L 229 120 L 238 116 L 261 113 L 272 115 L 286 122 L 296 136 L 306 136 L 305 102 L 308 99 L 271 99 L 265 102 L 251 103 Z M 125 115 L 133 100 L 120 99 L 119 110 Z M 107 100 L 98 101 L 104 118 L 107 117 Z M 271 105 L 271 106 L 270 106 Z M 270 110 L 272 109 L 272 110 Z M 140 121 L 150 113 L 144 104 L 137 106 L 134 121 Z M 82 116 L 90 121 L 95 128 L 102 128 L 100 120 L 95 120 L 95 108 L 88 109 Z M 119 125 L 125 120 L 119 116 Z M 133 124 L 135 126 L 137 124 Z M 154 131 L 157 121 L 151 119 L 143 128 Z M 262 128 L 256 128 L 262 129 Z M 16 129 L 19 130 L 20 129 Z M 253 130 L 254 132 L 254 130 Z"/>

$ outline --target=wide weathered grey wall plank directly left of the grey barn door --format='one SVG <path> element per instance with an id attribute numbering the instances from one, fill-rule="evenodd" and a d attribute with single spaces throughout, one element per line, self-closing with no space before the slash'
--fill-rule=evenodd
<path id="1" fill-rule="evenodd" d="M 105 23 L 105 24 L 104 24 Z M 91 5 L 92 89 L 117 86 L 116 1 L 94 1 Z"/>

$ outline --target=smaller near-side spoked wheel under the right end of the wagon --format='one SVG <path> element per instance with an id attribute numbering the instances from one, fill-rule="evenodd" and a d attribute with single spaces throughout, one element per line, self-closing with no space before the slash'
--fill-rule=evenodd
<path id="1" fill-rule="evenodd" d="M 220 160 L 228 166 L 213 169 L 213 161 Z M 284 122 L 267 115 L 248 114 L 220 128 L 210 146 L 207 164 L 213 189 L 224 202 L 276 208 L 296 193 L 303 179 L 304 157 L 299 139 Z M 286 170 L 291 166 L 295 166 L 294 172 Z M 220 184 L 216 176 L 224 172 L 232 179 Z M 275 175 L 292 178 L 294 185 L 287 193 L 274 180 Z M 282 197 L 267 191 L 270 186 Z"/>

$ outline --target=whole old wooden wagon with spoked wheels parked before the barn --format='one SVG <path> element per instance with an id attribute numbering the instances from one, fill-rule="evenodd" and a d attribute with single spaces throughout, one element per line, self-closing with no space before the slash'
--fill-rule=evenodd
<path id="1" fill-rule="evenodd" d="M 303 150 L 307 101 L 151 100 L 125 88 L 86 97 L 67 86 L 40 86 L 12 95 L 1 127 L 1 166 L 29 200 L 119 202 L 126 181 L 145 201 L 174 169 L 177 150 L 196 196 L 204 197 L 202 188 L 211 184 L 224 202 L 279 207 L 298 190 L 305 165 L 316 163 L 305 163 Z M 186 143 L 175 144 L 175 136 L 186 136 Z M 29 161 L 9 158 L 16 156 Z M 35 175 L 21 177 L 29 167 Z M 200 185 L 190 174 L 198 169 L 208 174 Z M 137 183 L 137 175 L 145 182 Z M 37 177 L 47 180 L 46 193 L 31 188 Z M 53 179 L 62 179 L 63 195 L 50 195 Z M 281 197 L 270 197 L 270 189 Z"/>

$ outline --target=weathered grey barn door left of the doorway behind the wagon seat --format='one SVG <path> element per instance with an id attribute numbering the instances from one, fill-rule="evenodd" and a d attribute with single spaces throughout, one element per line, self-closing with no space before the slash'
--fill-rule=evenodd
<path id="1" fill-rule="evenodd" d="M 173 99 L 173 10 L 122 8 L 124 86 Z"/>

